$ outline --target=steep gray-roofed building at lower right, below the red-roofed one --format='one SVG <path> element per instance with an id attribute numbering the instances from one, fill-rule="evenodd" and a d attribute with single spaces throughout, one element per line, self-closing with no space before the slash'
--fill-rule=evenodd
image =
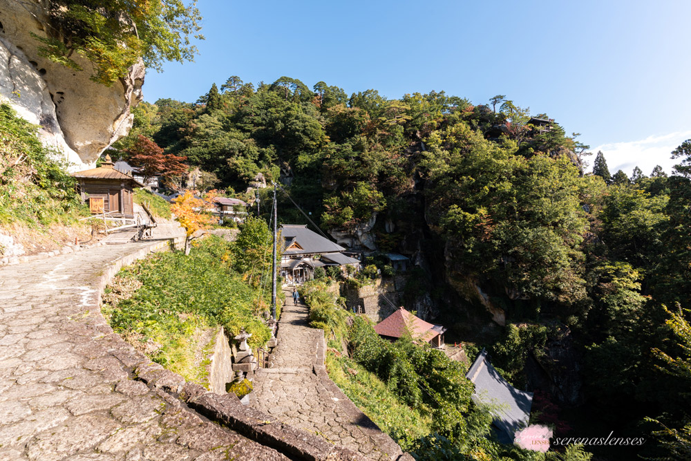
<path id="1" fill-rule="evenodd" d="M 493 406 L 493 424 L 498 429 L 500 442 L 513 442 L 515 431 L 528 424 L 533 393 L 511 386 L 489 363 L 484 349 L 468 370 L 466 378 L 475 384 L 473 399 Z"/>

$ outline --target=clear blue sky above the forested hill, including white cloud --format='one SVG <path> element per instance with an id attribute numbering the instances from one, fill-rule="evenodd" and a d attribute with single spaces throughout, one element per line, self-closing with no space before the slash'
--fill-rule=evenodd
<path id="1" fill-rule="evenodd" d="M 688 1 L 200 0 L 196 62 L 150 71 L 144 99 L 195 101 L 238 75 L 389 98 L 502 94 L 605 153 L 609 169 L 670 172 L 691 138 Z M 590 159 L 592 161 L 592 158 Z"/>

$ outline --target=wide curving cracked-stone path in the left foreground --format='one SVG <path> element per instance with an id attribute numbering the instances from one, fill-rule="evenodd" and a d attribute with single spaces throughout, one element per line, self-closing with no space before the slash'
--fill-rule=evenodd
<path id="1" fill-rule="evenodd" d="M 151 243 L 0 268 L 0 460 L 286 460 L 130 379 L 97 281 Z"/>

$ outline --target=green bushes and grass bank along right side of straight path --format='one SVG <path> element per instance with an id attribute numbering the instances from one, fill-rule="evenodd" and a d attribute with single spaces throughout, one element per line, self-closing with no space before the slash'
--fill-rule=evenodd
<path id="1" fill-rule="evenodd" d="M 465 364 L 411 337 L 382 339 L 367 317 L 339 308 L 326 287 L 312 281 L 303 296 L 312 326 L 343 335 L 334 347 L 341 340 L 348 344 L 350 359 L 328 355 L 329 375 L 404 449 L 418 460 L 536 459 L 489 439 L 492 416 L 473 403 Z"/>

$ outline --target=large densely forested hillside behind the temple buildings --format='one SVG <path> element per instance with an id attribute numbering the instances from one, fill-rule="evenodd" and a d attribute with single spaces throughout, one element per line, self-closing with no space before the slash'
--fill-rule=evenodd
<path id="1" fill-rule="evenodd" d="M 584 174 L 576 134 L 502 95 L 387 100 L 289 77 L 140 104 L 123 158 L 140 135 L 187 157 L 202 187 L 242 196 L 261 173 L 339 239 L 413 256 L 458 340 L 487 346 L 516 386 L 547 379 L 565 433 L 648 440 L 588 447 L 602 459 L 689 456 L 691 142 L 669 177 L 610 176 L 600 154 Z M 302 222 L 281 200 L 279 220 Z"/>

